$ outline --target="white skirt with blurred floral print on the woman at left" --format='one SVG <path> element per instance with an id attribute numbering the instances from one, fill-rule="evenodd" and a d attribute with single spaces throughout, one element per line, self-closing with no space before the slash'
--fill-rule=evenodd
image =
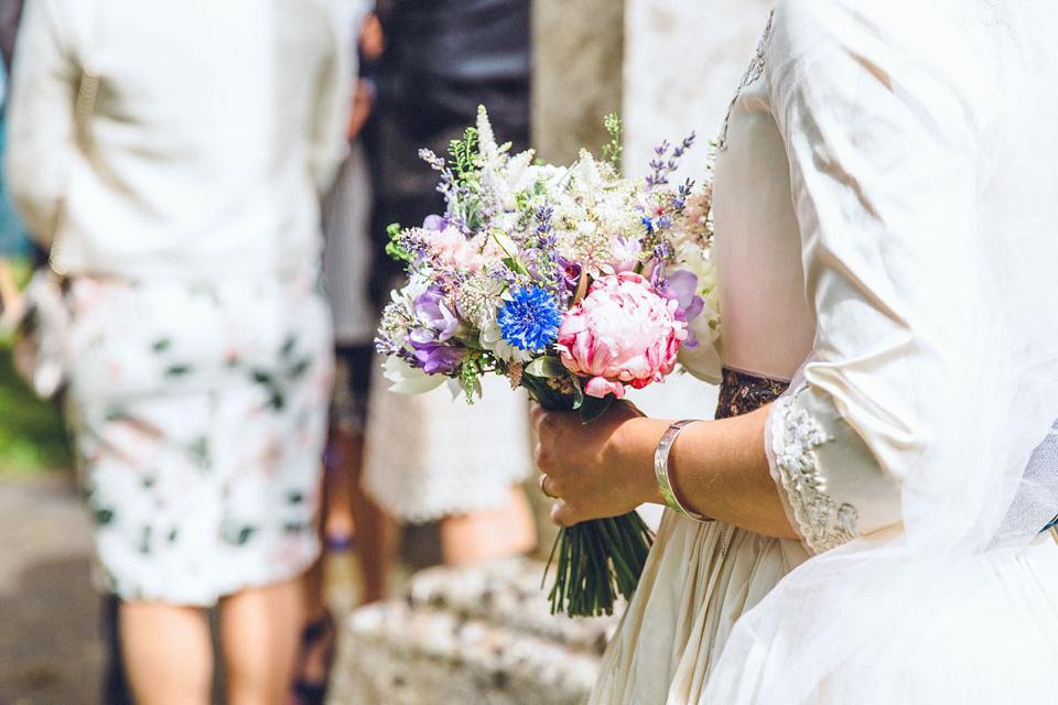
<path id="1" fill-rule="evenodd" d="M 67 404 L 111 589 L 210 606 L 302 573 L 333 367 L 315 278 L 80 276 L 68 296 Z"/>

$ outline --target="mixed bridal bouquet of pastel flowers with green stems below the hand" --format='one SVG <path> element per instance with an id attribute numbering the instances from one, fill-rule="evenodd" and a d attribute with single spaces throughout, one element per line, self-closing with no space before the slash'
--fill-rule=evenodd
<path id="1" fill-rule="evenodd" d="M 408 272 L 376 340 L 395 391 L 447 380 L 473 402 L 482 376 L 497 373 L 587 423 L 628 388 L 663 381 L 681 355 L 713 349 L 710 194 L 669 184 L 693 134 L 659 147 L 647 177 L 623 178 L 619 124 L 606 126 L 604 159 L 582 151 L 569 167 L 510 154 L 484 109 L 450 159 L 420 151 L 447 209 L 389 229 L 387 250 Z M 635 590 L 651 541 L 636 512 L 563 529 L 552 612 L 611 614 Z"/>

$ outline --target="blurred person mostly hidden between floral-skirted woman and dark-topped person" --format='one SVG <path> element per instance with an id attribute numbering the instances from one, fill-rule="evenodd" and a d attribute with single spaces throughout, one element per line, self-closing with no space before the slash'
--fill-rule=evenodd
<path id="1" fill-rule="evenodd" d="M 386 597 L 396 527 L 360 486 L 364 429 L 377 315 L 369 296 L 371 184 L 359 133 L 371 111 L 374 83 L 361 77 L 381 52 L 370 0 L 347 8 L 354 39 L 349 63 L 349 150 L 323 200 L 323 283 L 334 322 L 335 377 L 325 453 L 322 516 L 324 552 L 305 574 L 305 626 L 290 705 L 322 705 L 337 647 L 337 627 L 326 603 L 326 562 L 353 549 L 359 565 L 359 604 Z M 355 539 L 354 539 L 355 534 Z"/>

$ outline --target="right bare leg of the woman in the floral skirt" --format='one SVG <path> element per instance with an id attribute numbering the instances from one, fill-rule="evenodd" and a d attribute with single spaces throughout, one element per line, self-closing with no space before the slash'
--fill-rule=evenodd
<path id="1" fill-rule="evenodd" d="M 220 601 L 220 644 L 230 705 L 282 705 L 302 627 L 299 578 L 248 588 Z"/>

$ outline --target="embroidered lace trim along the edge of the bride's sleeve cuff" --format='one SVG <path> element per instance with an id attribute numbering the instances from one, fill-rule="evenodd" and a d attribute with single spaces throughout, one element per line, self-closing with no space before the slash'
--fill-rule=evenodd
<path id="1" fill-rule="evenodd" d="M 785 397 L 775 404 L 771 449 L 805 541 L 822 553 L 860 538 L 860 514 L 852 505 L 839 506 L 827 495 L 816 448 L 834 438 L 807 411 L 794 411 L 796 399 Z"/>

